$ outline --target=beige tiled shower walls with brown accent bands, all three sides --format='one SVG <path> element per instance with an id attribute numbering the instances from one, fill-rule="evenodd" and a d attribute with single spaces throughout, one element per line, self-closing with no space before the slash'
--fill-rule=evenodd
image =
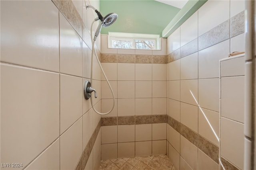
<path id="1" fill-rule="evenodd" d="M 85 1 L 1 0 L 0 10 L 1 169 L 98 170 L 101 160 L 165 154 L 177 170 L 243 169 L 244 57 L 220 70 L 245 51 L 243 0 L 207 1 L 161 50 L 111 49 L 99 36 L 116 103 L 104 116 L 83 96 L 96 17 Z M 93 103 L 106 112 L 112 95 L 93 68 Z"/>

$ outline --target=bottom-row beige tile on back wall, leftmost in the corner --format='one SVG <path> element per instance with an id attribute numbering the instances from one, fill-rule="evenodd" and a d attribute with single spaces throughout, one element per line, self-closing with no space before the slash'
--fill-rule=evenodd
<path id="1" fill-rule="evenodd" d="M 116 159 L 117 158 L 117 143 L 101 145 L 101 159 Z"/>

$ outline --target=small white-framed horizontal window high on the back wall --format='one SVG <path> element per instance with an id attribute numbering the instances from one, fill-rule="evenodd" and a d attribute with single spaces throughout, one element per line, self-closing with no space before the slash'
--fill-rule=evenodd
<path id="1" fill-rule="evenodd" d="M 159 49 L 159 35 L 109 33 L 109 47 L 120 49 Z"/>

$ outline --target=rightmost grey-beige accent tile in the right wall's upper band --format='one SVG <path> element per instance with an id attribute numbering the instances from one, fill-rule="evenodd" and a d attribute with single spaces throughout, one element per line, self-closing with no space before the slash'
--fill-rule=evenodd
<path id="1" fill-rule="evenodd" d="M 230 19 L 231 37 L 244 33 L 244 11 Z"/>

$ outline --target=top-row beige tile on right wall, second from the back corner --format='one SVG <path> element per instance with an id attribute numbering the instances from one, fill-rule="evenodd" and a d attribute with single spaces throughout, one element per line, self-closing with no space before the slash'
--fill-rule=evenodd
<path id="1" fill-rule="evenodd" d="M 180 46 L 198 37 L 198 11 L 180 26 Z"/>

